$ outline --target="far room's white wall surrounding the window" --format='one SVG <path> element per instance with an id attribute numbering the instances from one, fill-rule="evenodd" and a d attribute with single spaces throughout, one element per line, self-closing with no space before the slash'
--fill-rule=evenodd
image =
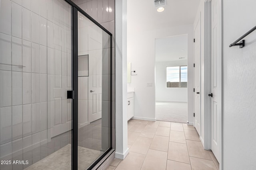
<path id="1" fill-rule="evenodd" d="M 188 102 L 188 88 L 166 88 L 166 66 L 184 66 L 188 61 L 156 63 L 156 101 Z"/>

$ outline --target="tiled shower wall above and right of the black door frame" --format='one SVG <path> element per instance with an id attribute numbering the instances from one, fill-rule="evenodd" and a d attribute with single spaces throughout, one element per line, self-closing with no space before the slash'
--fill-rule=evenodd
<path id="1" fill-rule="evenodd" d="M 115 0 L 72 0 L 112 33 L 112 134 L 115 134 Z M 86 46 L 86 45 L 85 45 Z M 114 137 L 114 135 L 112 135 Z M 112 138 L 112 148 L 115 141 Z"/>

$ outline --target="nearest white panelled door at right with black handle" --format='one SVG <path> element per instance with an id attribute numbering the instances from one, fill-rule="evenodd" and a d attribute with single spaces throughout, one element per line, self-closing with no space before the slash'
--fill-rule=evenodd
<path id="1" fill-rule="evenodd" d="M 220 0 L 212 0 L 211 10 L 211 149 L 216 159 L 220 159 L 221 143 L 221 5 Z"/>

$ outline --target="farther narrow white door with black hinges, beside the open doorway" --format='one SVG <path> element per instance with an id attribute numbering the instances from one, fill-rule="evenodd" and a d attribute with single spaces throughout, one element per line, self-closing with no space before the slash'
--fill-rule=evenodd
<path id="1" fill-rule="evenodd" d="M 201 56 L 201 16 L 196 18 L 194 27 L 194 126 L 200 135 L 201 133 L 201 111 L 200 111 L 200 56 Z"/>

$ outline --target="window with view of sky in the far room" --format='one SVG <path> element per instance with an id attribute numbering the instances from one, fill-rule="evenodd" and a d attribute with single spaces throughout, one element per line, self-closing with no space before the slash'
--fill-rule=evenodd
<path id="1" fill-rule="evenodd" d="M 166 67 L 166 87 L 167 88 L 187 88 L 188 86 L 188 66 Z"/>

